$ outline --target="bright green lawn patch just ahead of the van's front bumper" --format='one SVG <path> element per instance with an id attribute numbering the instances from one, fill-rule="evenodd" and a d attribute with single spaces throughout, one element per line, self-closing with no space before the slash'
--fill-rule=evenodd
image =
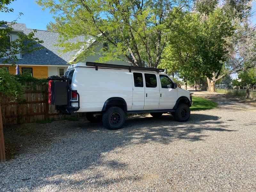
<path id="1" fill-rule="evenodd" d="M 191 111 L 213 109 L 218 107 L 218 104 L 216 102 L 204 99 L 202 97 L 193 96 L 192 101 L 193 104 L 190 107 Z"/>

